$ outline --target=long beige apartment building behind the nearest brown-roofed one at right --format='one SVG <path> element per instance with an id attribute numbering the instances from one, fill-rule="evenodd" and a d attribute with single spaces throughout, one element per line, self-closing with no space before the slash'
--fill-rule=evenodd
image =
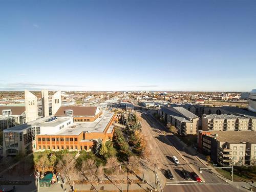
<path id="1" fill-rule="evenodd" d="M 256 119 L 236 115 L 203 115 L 203 131 L 254 131 Z"/>

